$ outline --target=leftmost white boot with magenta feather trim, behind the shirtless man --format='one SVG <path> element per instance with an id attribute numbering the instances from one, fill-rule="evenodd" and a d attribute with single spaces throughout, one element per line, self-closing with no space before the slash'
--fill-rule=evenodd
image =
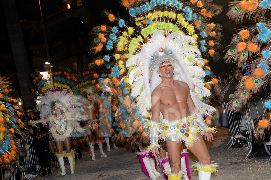
<path id="1" fill-rule="evenodd" d="M 156 176 L 151 169 L 151 162 L 148 153 L 143 151 L 139 152 L 138 155 L 142 171 L 146 174 L 148 178 L 151 178 L 151 180 L 156 180 Z"/>

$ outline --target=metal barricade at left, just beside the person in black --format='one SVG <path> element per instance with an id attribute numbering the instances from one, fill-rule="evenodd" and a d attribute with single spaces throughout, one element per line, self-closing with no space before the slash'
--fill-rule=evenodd
<path id="1" fill-rule="evenodd" d="M 28 138 L 27 138 L 26 140 L 24 140 L 24 141 L 21 141 L 21 140 L 18 141 L 18 147 L 29 146 L 29 147 L 28 147 L 28 150 L 27 150 L 27 151 L 29 152 L 29 154 L 28 154 L 28 156 L 26 156 L 26 158 L 24 158 L 24 160 L 23 160 L 23 166 L 24 166 L 27 170 L 29 170 L 29 169 L 31 169 L 32 167 L 35 167 L 37 164 L 39 164 L 39 162 L 38 162 L 38 157 L 36 156 L 35 149 L 34 149 L 34 147 L 32 146 L 32 143 L 33 143 L 32 137 L 28 137 Z M 27 153 L 28 153 L 28 152 L 27 152 Z M 21 172 L 21 175 L 22 175 L 21 180 L 23 179 L 23 177 L 25 177 L 26 179 L 29 179 L 29 178 L 26 176 L 26 173 L 25 173 L 27 170 Z M 31 180 L 31 179 L 29 179 L 29 180 Z"/>

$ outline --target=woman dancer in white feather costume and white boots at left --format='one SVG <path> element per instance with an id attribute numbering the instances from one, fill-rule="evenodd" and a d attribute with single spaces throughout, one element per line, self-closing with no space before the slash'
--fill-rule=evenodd
<path id="1" fill-rule="evenodd" d="M 72 96 L 73 93 L 67 93 L 67 90 L 48 91 L 44 96 L 37 98 L 37 110 L 41 112 L 42 119 L 34 122 L 34 124 L 49 122 L 50 132 L 55 139 L 57 148 L 57 158 L 60 164 L 61 175 L 66 174 L 64 165 L 64 157 L 68 158 L 70 164 L 70 173 L 74 174 L 75 169 L 75 155 L 74 150 L 71 149 L 71 136 L 73 131 L 83 133 L 84 130 L 80 127 L 77 121 L 82 119 L 89 119 L 83 116 L 81 108 L 78 106 L 81 103 L 76 102 L 77 96 Z M 63 144 L 65 151 L 63 151 Z"/>

